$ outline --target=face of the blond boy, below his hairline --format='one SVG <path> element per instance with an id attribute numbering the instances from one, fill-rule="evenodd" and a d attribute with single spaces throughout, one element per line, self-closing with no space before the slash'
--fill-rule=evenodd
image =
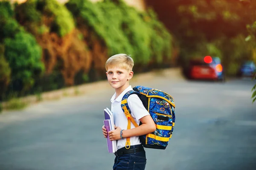
<path id="1" fill-rule="evenodd" d="M 128 71 L 122 67 L 111 67 L 108 68 L 107 72 L 108 83 L 116 90 L 120 90 L 122 92 L 126 89 L 129 85 L 129 81 L 132 76 L 133 72 Z"/>

